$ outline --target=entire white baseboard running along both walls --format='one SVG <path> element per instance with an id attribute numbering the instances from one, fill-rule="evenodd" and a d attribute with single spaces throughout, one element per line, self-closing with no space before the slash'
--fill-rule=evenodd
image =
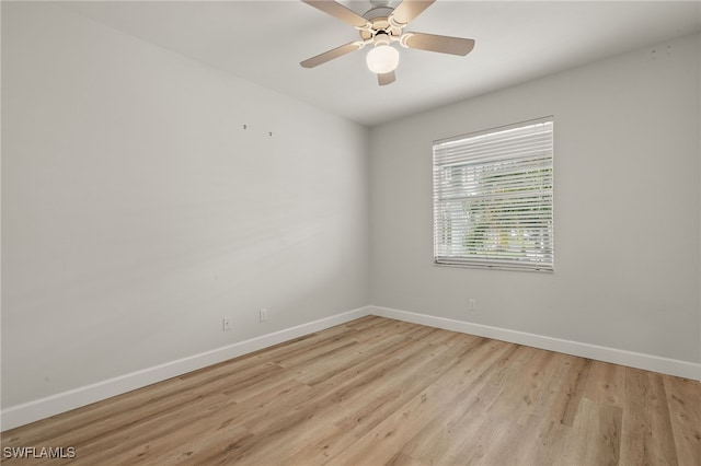
<path id="1" fill-rule="evenodd" d="M 335 325 L 345 324 L 366 315 L 394 318 L 429 327 L 444 328 L 446 330 L 494 338 L 497 340 L 563 352 L 598 361 L 612 362 L 616 364 L 629 365 L 631 368 L 660 372 L 663 374 L 676 375 L 691 380 L 701 380 L 701 364 L 693 362 L 660 358 L 616 348 L 599 347 L 596 345 L 544 337 L 541 335 L 491 327 L 487 325 L 455 321 L 445 317 L 436 317 L 433 315 L 417 314 L 389 307 L 366 306 L 251 338 L 245 341 L 228 345 L 211 351 L 120 375 L 118 377 L 97 382 L 84 387 L 51 395 L 46 398 L 12 406 L 3 409 L 0 413 L 0 419 L 2 420 L 1 430 L 4 431 L 13 429 L 39 419 L 48 418 L 49 416 L 80 408 L 112 396 L 120 395 L 157 382 L 183 375 L 187 372 L 227 361 L 273 345 L 289 341 L 294 338 L 320 331 Z"/>

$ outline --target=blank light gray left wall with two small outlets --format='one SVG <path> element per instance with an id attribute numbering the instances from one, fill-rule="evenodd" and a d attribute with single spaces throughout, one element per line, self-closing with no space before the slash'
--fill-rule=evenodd
<path id="1" fill-rule="evenodd" d="M 367 305 L 368 190 L 366 128 L 4 3 L 3 408 Z"/>

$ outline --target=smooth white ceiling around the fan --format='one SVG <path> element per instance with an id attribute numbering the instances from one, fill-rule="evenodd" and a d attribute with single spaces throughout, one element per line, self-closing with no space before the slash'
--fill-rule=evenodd
<path id="1" fill-rule="evenodd" d="M 370 8 L 341 3 L 359 14 Z M 380 88 L 365 50 L 299 66 L 358 34 L 298 0 L 62 4 L 366 126 L 701 31 L 701 1 L 438 0 L 406 31 L 473 38 L 474 50 L 456 57 L 401 48 L 397 82 Z"/>

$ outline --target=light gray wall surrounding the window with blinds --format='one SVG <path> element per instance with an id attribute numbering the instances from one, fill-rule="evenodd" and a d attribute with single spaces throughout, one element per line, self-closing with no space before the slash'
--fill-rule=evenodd
<path id="1" fill-rule="evenodd" d="M 699 362 L 699 44 L 681 38 L 374 128 L 372 304 Z M 555 272 L 433 266 L 432 141 L 548 115 Z"/>

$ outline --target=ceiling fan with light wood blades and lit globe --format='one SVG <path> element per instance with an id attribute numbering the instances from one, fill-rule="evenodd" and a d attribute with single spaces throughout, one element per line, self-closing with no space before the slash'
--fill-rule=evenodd
<path id="1" fill-rule="evenodd" d="M 404 32 L 404 27 L 424 12 L 436 0 L 403 0 L 395 8 L 391 0 L 370 1 L 372 8 L 361 16 L 333 0 L 302 0 L 302 2 L 330 14 L 358 30 L 360 40 L 355 40 L 323 54 L 317 55 L 300 65 L 314 68 L 334 58 L 372 45 L 367 55 L 370 71 L 377 74 L 378 83 L 387 85 L 397 79 L 394 70 L 399 65 L 399 50 L 392 44 L 420 50 L 439 51 L 451 55 L 468 55 L 474 47 L 474 40 L 435 34 Z"/>

